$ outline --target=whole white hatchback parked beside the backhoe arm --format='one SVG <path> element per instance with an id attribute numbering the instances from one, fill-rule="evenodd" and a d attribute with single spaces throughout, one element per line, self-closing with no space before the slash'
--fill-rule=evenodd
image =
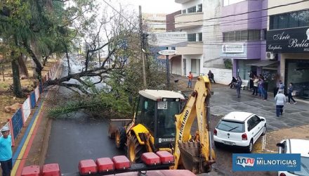
<path id="1" fill-rule="evenodd" d="M 266 133 L 266 120 L 254 113 L 231 112 L 225 115 L 213 131 L 215 146 L 241 146 L 251 153 L 253 145 Z"/>

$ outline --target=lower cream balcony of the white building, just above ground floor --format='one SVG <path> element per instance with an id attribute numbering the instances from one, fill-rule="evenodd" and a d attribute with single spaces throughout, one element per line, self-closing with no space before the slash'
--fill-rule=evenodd
<path id="1" fill-rule="evenodd" d="M 187 46 L 176 47 L 177 54 L 203 54 L 203 42 L 188 42 Z"/>

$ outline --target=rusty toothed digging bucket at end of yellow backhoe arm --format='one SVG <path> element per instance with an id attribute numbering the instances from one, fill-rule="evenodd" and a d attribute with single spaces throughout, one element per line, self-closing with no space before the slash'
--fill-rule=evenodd
<path id="1" fill-rule="evenodd" d="M 204 157 L 200 156 L 199 142 L 179 142 L 178 144 L 180 158 L 186 170 L 191 170 L 195 174 L 209 172 L 211 166 L 207 165 Z"/>

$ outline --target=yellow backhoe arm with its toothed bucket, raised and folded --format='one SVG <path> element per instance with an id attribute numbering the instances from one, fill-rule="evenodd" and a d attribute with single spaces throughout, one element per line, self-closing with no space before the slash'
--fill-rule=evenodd
<path id="1" fill-rule="evenodd" d="M 194 173 L 209 172 L 214 163 L 209 135 L 209 97 L 211 84 L 208 77 L 199 76 L 183 112 L 176 118 L 176 145 L 174 169 L 185 168 Z M 208 111 L 207 111 L 208 110 Z M 197 118 L 198 131 L 190 140 L 192 123 Z"/>

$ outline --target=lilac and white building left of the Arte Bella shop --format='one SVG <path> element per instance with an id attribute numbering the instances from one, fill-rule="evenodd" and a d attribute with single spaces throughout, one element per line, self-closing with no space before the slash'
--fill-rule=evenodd
<path id="1" fill-rule="evenodd" d="M 267 6 L 268 0 L 223 0 L 221 58 L 232 61 L 233 76 L 249 80 L 250 72 L 262 74 L 273 87 L 277 62 L 265 57 Z"/>

